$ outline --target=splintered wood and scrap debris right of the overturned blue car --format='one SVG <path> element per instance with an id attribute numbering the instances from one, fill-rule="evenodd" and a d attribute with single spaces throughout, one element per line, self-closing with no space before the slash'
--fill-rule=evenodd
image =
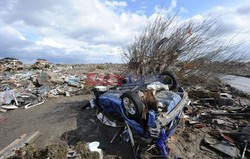
<path id="1" fill-rule="evenodd" d="M 206 152 L 204 154 L 209 158 L 217 155 L 224 158 L 249 157 L 249 99 L 230 94 L 229 86 L 189 87 L 187 91 L 192 99 L 185 110 L 184 119 L 188 127 L 184 135 L 178 137 L 185 138 L 185 142 L 196 142 L 199 147 L 198 150 L 190 150 L 189 146 L 181 148 L 189 152 L 185 158 L 197 157 L 198 152 L 195 151 Z M 196 141 L 192 138 L 196 138 Z"/>

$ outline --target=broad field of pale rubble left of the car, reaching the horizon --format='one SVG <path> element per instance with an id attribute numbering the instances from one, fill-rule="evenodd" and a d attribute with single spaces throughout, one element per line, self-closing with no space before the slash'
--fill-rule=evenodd
<path id="1" fill-rule="evenodd" d="M 55 65 L 45 59 L 24 65 L 14 58 L 1 59 L 0 64 L 4 68 L 0 71 L 0 112 L 31 108 L 60 95 L 81 94 L 85 91 L 86 74 L 100 72 L 106 66 Z"/>

